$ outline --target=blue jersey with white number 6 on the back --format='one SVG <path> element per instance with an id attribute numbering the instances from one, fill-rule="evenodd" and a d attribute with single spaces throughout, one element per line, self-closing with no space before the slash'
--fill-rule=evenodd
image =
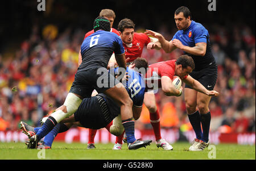
<path id="1" fill-rule="evenodd" d="M 82 63 L 77 72 L 91 68 L 107 68 L 113 52 L 117 55 L 125 53 L 121 38 L 109 31 L 94 32 L 82 42 Z"/>

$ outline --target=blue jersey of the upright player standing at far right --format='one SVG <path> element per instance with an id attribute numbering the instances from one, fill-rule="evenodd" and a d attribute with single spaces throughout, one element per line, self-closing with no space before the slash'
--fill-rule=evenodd
<path id="1" fill-rule="evenodd" d="M 206 43 L 207 50 L 204 56 L 191 55 L 187 52 L 185 54 L 191 56 L 195 62 L 195 71 L 204 68 L 209 68 L 211 65 L 216 65 L 215 59 L 212 55 L 209 33 L 205 27 L 192 20 L 190 26 L 186 30 L 179 30 L 176 32 L 172 40 L 178 39 L 181 43 L 188 47 L 195 47 L 196 43 Z"/>

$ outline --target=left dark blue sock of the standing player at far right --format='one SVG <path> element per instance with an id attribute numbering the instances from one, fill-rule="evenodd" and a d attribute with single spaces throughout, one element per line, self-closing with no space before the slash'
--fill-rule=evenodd
<path id="1" fill-rule="evenodd" d="M 196 138 L 201 140 L 202 139 L 202 130 L 201 130 L 201 119 L 200 119 L 200 113 L 199 110 L 197 110 L 193 114 L 188 115 L 189 122 L 191 123 L 193 130 L 196 133 Z"/>

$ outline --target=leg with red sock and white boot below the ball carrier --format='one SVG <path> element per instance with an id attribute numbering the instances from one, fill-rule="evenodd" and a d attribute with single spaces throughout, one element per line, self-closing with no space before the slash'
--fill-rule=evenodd
<path id="1" fill-rule="evenodd" d="M 164 150 L 172 150 L 173 147 L 161 137 L 160 114 L 156 107 L 154 91 L 149 91 L 144 94 L 143 103 L 150 112 L 150 123 L 154 130 L 156 147 L 161 147 Z"/>

